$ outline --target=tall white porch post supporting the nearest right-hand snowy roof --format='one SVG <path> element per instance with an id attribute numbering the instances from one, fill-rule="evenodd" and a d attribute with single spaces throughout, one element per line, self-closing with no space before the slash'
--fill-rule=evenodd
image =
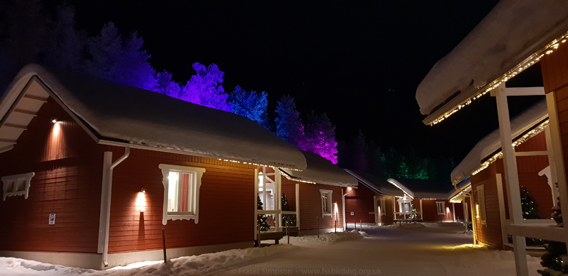
<path id="1" fill-rule="evenodd" d="M 519 176 L 517 160 L 511 139 L 509 106 L 505 83 L 491 91 L 497 100 L 497 114 L 499 118 L 499 133 L 501 134 L 501 148 L 503 165 L 505 167 L 505 181 L 507 187 L 509 216 L 513 224 L 523 223 L 523 212 L 520 206 Z M 518 276 L 528 276 L 525 237 L 513 236 L 513 253 L 515 255 L 515 268 Z"/>

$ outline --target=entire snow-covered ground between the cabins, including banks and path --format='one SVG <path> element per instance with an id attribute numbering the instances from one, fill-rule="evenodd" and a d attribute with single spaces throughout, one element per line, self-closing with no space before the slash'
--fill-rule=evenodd
<path id="1" fill-rule="evenodd" d="M 365 227 L 365 232 L 291 237 L 290 245 L 228 250 L 113 270 L 0 258 L 0 275 L 515 275 L 513 252 L 471 245 L 459 223 Z M 280 243 L 287 243 L 284 238 Z M 540 259 L 528 257 L 530 275 Z M 141 265 L 146 265 L 140 267 Z"/>

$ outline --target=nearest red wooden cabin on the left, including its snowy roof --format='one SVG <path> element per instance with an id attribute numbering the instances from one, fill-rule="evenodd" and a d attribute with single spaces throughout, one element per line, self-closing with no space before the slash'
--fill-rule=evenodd
<path id="1" fill-rule="evenodd" d="M 24 67 L 0 100 L 0 255 L 101 269 L 253 246 L 258 165 L 302 153 L 247 118 Z M 246 219 L 249 218 L 249 219 Z"/>

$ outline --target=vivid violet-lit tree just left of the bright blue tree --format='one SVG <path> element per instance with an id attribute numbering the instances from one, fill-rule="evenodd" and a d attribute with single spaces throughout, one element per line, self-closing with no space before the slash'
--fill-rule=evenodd
<path id="1" fill-rule="evenodd" d="M 207 67 L 199 62 L 193 64 L 194 74 L 181 89 L 180 99 L 214 109 L 231 111 L 233 104 L 226 101 L 229 94 L 223 89 L 223 74 L 216 64 Z"/>

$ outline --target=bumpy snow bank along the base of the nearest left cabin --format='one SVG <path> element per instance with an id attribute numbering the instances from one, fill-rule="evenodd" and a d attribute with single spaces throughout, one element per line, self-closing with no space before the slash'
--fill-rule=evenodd
<path id="1" fill-rule="evenodd" d="M 271 255 L 285 253 L 297 248 L 295 245 L 275 245 L 263 248 L 226 250 L 218 253 L 194 255 L 172 259 L 168 264 L 161 261 L 133 263 L 111 270 L 86 270 L 62 265 L 38 263 L 17 258 L 0 258 L 0 271 L 3 276 L 20 275 L 203 275 L 218 270 L 230 269 Z"/>

